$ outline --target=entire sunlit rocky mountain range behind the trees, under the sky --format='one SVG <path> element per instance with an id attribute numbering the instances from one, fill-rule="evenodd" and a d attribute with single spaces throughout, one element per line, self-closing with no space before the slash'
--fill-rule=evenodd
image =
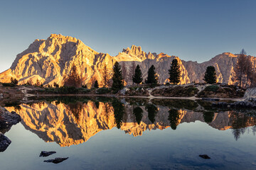
<path id="1" fill-rule="evenodd" d="M 28 49 L 16 56 L 10 69 L 0 74 L 1 82 L 9 82 L 11 77 L 18 79 L 19 84 L 28 81 L 62 85 L 63 77 L 70 72 L 72 64 L 78 67 L 78 74 L 85 79 L 84 84 L 92 84 L 96 79 L 102 82 L 102 67 L 106 64 L 110 74 L 114 62 L 124 64 L 129 73 L 132 62 L 142 68 L 143 79 L 147 77 L 147 71 L 152 64 L 159 75 L 159 83 L 168 81 L 168 70 L 171 61 L 176 58 L 181 66 L 181 84 L 191 82 L 203 82 L 206 67 L 213 65 L 217 71 L 218 82 L 234 84 L 234 66 L 238 55 L 229 52 L 213 57 L 208 62 L 198 63 L 183 61 L 173 55 L 155 52 L 144 52 L 142 47 L 132 45 L 119 52 L 117 56 L 96 52 L 87 47 L 81 40 L 63 35 L 50 35 L 47 40 L 35 40 Z M 250 56 L 252 64 L 256 66 L 256 57 Z M 125 81 L 132 84 L 131 76 L 127 74 Z"/>

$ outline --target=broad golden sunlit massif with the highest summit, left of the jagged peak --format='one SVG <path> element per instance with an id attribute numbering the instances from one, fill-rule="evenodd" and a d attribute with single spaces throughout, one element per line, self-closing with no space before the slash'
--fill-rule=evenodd
<path id="1" fill-rule="evenodd" d="M 18 54 L 11 68 L 1 73 L 0 79 L 9 81 L 14 77 L 20 84 L 28 81 L 35 84 L 38 79 L 40 83 L 61 85 L 72 64 L 87 84 L 95 77 L 101 81 L 103 64 L 112 69 L 113 58 L 95 52 L 76 38 L 52 34 L 47 40 L 35 40 L 27 50 Z"/>

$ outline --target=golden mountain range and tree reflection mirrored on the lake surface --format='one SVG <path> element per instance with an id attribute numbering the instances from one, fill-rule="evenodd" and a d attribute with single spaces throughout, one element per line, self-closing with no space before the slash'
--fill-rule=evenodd
<path id="1" fill-rule="evenodd" d="M 137 101 L 136 101 L 137 100 Z M 145 130 L 176 130 L 180 123 L 196 120 L 208 123 L 218 130 L 232 129 L 235 140 L 245 132 L 256 132 L 253 114 L 237 111 L 195 111 L 198 103 L 182 106 L 182 101 L 139 101 L 136 99 L 105 98 L 105 100 L 61 99 L 41 101 L 6 107 L 16 111 L 22 124 L 46 142 L 56 142 L 61 147 L 86 142 L 101 130 L 117 127 L 129 135 L 142 135 Z M 164 104 L 162 104 L 164 103 Z M 174 105 L 166 105 L 174 103 Z M 192 108 L 188 107 L 192 106 Z M 194 106 L 194 107 L 193 107 Z"/>

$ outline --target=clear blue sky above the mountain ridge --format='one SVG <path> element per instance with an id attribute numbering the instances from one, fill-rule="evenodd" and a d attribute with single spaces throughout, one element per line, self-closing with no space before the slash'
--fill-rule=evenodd
<path id="1" fill-rule="evenodd" d="M 198 62 L 242 48 L 256 56 L 256 1 L 1 1 L 0 72 L 51 33 L 113 56 L 131 45 Z"/>

